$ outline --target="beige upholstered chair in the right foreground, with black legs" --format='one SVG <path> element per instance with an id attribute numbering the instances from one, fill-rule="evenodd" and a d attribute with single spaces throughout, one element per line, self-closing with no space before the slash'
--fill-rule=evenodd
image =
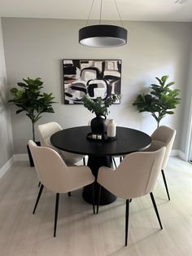
<path id="1" fill-rule="evenodd" d="M 128 241 L 129 201 L 132 198 L 150 194 L 160 228 L 163 229 L 152 191 L 161 170 L 164 152 L 165 147 L 154 152 L 133 152 L 124 157 L 116 170 L 104 166 L 98 170 L 98 183 L 114 195 L 126 200 L 125 246 L 127 246 Z M 99 201 L 100 192 L 98 205 Z"/>

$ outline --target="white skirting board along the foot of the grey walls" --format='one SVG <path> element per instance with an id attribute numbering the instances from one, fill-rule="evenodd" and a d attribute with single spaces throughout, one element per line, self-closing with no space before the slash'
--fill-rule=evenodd
<path id="1" fill-rule="evenodd" d="M 178 156 L 182 160 L 186 161 L 185 153 L 182 152 L 181 150 L 178 150 L 178 149 L 173 149 L 170 156 L 172 156 L 172 157 L 177 157 Z M 7 170 L 10 169 L 10 167 L 12 166 L 12 164 L 15 161 L 28 161 L 28 154 L 16 154 L 16 155 L 13 155 L 13 157 L 11 157 L 7 161 L 7 163 L 4 166 L 2 166 L 2 168 L 0 168 L 0 179 L 2 178 L 2 176 L 4 174 L 7 173 Z"/>

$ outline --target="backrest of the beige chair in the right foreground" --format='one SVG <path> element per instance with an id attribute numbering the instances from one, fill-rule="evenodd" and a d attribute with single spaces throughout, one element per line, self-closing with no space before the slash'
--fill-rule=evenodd
<path id="1" fill-rule="evenodd" d="M 114 171 L 111 192 L 120 198 L 135 198 L 152 192 L 161 170 L 165 147 L 154 152 L 133 152 Z"/>

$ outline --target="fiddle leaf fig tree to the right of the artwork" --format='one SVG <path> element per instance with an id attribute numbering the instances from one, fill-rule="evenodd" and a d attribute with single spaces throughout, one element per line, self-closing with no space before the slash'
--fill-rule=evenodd
<path id="1" fill-rule="evenodd" d="M 178 89 L 170 89 L 170 86 L 175 82 L 168 82 L 168 75 L 161 78 L 155 77 L 159 84 L 151 85 L 150 94 L 137 95 L 137 99 L 133 102 L 133 106 L 136 106 L 139 113 L 150 112 L 151 116 L 155 118 L 157 127 L 159 122 L 167 114 L 173 114 L 172 109 L 177 107 L 177 104 L 181 102 L 181 99 L 177 96 L 180 93 Z"/>

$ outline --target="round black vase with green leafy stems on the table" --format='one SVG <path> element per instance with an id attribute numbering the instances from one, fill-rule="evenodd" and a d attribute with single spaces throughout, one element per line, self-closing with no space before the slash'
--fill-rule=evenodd
<path id="1" fill-rule="evenodd" d="M 85 95 L 81 101 L 83 102 L 85 108 L 89 109 L 90 112 L 95 113 L 91 122 L 91 130 L 93 134 L 103 135 L 106 131 L 106 116 L 109 113 L 108 108 L 111 104 L 114 104 L 117 99 L 120 99 L 120 95 L 111 95 L 107 99 L 103 100 L 101 97 L 96 99 L 91 99 L 89 96 Z M 103 118 L 104 117 L 104 118 Z"/>

